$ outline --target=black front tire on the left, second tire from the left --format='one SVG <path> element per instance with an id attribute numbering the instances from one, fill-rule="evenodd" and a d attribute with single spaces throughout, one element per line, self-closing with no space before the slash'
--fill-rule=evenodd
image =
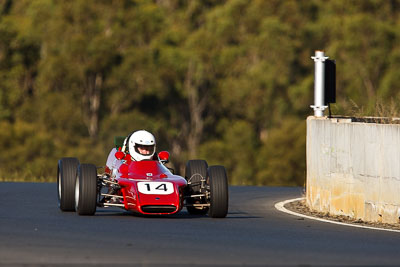
<path id="1" fill-rule="evenodd" d="M 97 168 L 81 164 L 75 184 L 75 210 L 79 215 L 94 215 L 97 205 Z"/>

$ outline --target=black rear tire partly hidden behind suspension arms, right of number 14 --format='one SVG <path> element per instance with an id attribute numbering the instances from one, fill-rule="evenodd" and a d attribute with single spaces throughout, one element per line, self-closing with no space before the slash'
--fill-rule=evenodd
<path id="1" fill-rule="evenodd" d="M 205 160 L 189 160 L 186 163 L 186 170 L 185 170 L 185 178 L 188 182 L 192 183 L 193 185 L 188 185 L 187 194 L 196 195 L 200 194 L 201 192 L 201 180 L 207 178 L 207 168 L 208 164 Z M 204 193 L 204 192 L 203 192 Z M 203 200 L 203 201 L 201 201 Z M 201 202 L 201 203 L 200 203 Z M 188 198 L 186 200 L 188 205 L 193 204 L 205 204 L 205 198 Z M 187 211 L 189 214 L 193 215 L 204 215 L 208 212 L 208 207 L 193 207 L 193 206 L 186 206 Z"/>

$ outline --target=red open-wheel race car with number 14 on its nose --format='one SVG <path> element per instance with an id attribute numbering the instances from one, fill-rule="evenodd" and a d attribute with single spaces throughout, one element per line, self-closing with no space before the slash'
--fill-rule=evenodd
<path id="1" fill-rule="evenodd" d="M 121 152 L 116 137 L 104 172 L 76 158 L 58 161 L 57 191 L 62 211 L 94 215 L 96 207 L 120 207 L 140 214 L 174 214 L 185 206 L 190 214 L 224 218 L 228 213 L 228 179 L 223 166 L 208 167 L 205 160 L 189 160 L 185 177 L 165 166 L 169 153 L 152 160 L 133 161 Z"/>

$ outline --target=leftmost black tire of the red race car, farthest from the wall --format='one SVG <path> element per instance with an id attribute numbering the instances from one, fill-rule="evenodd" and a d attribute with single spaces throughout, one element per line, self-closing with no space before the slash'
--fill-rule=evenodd
<path id="1" fill-rule="evenodd" d="M 79 160 L 77 158 L 62 158 L 57 168 L 58 206 L 62 211 L 75 210 L 75 180 Z"/>

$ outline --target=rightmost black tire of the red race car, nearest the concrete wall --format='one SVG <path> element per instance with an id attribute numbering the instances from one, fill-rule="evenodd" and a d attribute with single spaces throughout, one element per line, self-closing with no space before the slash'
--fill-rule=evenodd
<path id="1" fill-rule="evenodd" d="M 228 177 L 223 166 L 208 168 L 210 185 L 210 209 L 208 215 L 212 218 L 224 218 L 228 214 Z"/>

